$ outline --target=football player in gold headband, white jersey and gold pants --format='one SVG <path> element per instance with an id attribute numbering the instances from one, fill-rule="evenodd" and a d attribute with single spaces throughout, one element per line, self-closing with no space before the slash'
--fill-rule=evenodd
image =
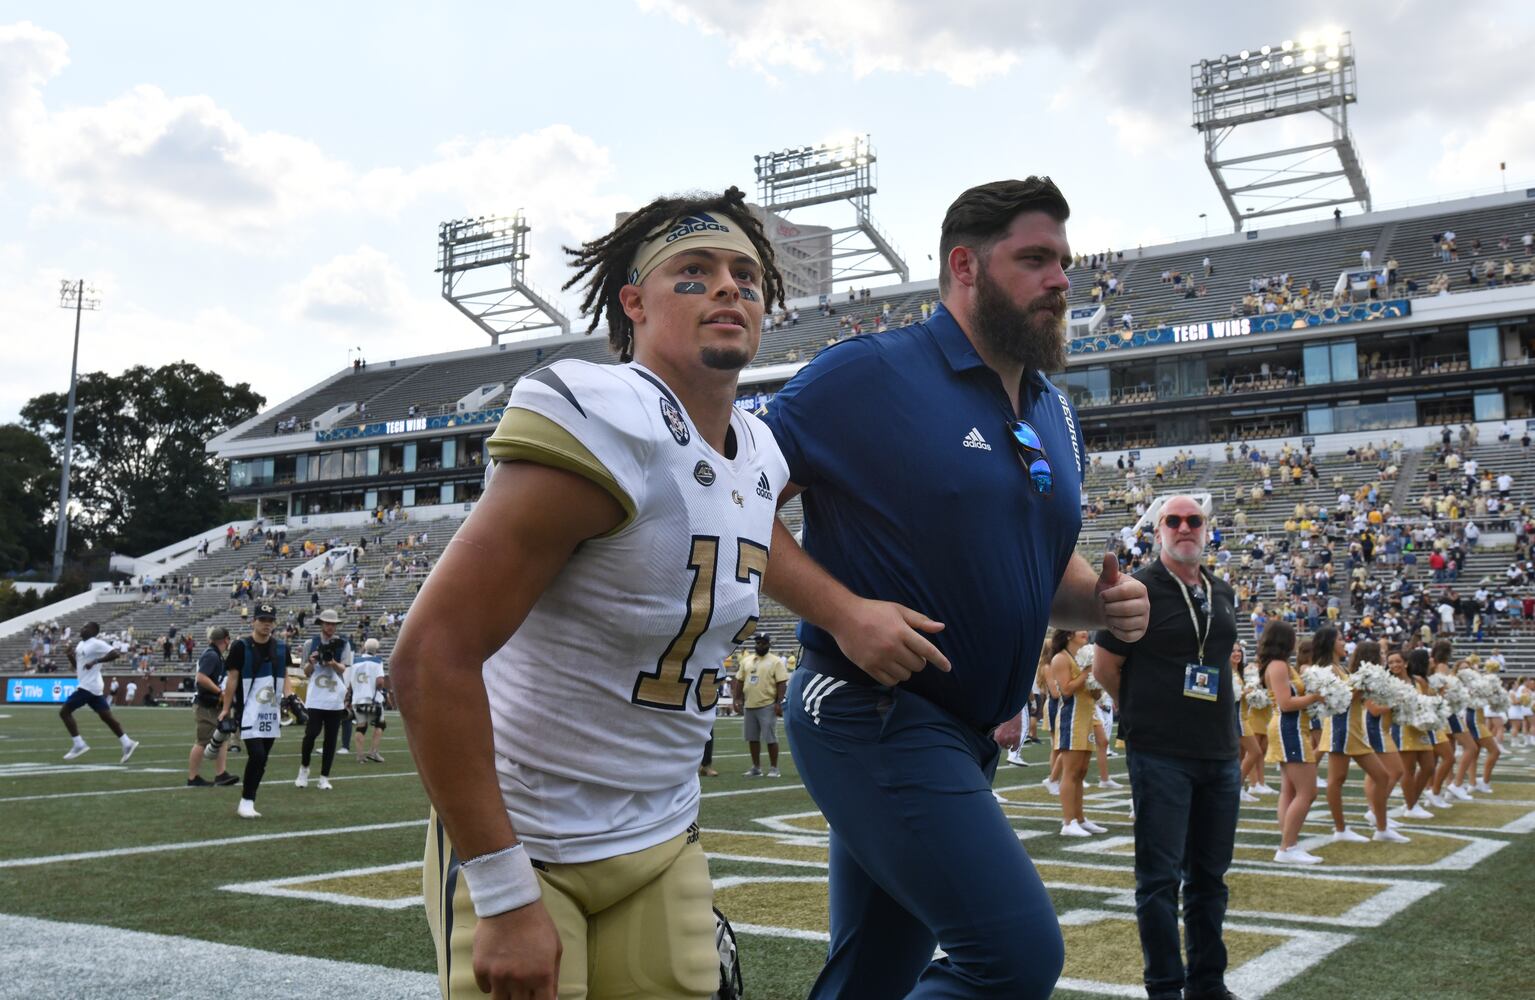
<path id="1" fill-rule="evenodd" d="M 394 648 L 434 810 L 427 916 L 445 997 L 703 998 L 698 754 L 787 478 L 734 399 L 781 278 L 734 187 L 571 255 L 623 364 L 517 382 Z"/>

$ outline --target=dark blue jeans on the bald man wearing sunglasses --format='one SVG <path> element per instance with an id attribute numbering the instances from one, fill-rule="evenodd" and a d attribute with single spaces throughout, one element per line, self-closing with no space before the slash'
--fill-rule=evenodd
<path id="1" fill-rule="evenodd" d="M 1147 995 L 1174 1000 L 1225 988 L 1226 868 L 1237 837 L 1237 760 L 1171 757 L 1130 748 L 1136 803 L 1136 923 Z M 1177 940 L 1183 891 L 1188 968 Z"/>

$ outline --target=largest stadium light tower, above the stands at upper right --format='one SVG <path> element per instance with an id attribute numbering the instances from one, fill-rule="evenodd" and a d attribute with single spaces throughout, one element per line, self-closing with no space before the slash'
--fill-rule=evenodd
<path id="1" fill-rule="evenodd" d="M 1358 100 L 1354 43 L 1346 31 L 1303 34 L 1299 40 L 1202 58 L 1190 68 L 1194 129 L 1205 137 L 1205 164 L 1236 232 L 1245 220 L 1358 203 L 1369 210 L 1369 183 L 1348 131 L 1348 106 Z M 1242 126 L 1291 115 L 1319 115 L 1331 138 L 1222 158 L 1222 146 Z M 1256 129 L 1242 135 L 1256 137 Z M 1242 212 L 1243 201 L 1263 207 Z"/>

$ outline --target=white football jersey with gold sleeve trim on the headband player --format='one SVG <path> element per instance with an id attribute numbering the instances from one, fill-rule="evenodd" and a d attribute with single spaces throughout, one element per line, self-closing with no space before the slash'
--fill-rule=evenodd
<path id="1" fill-rule="evenodd" d="M 734 458 L 639 364 L 557 361 L 517 382 L 496 461 L 583 475 L 623 507 L 485 662 L 502 797 L 546 862 L 628 854 L 698 813 L 720 661 L 757 624 L 777 498 L 772 433 L 731 410 Z"/>

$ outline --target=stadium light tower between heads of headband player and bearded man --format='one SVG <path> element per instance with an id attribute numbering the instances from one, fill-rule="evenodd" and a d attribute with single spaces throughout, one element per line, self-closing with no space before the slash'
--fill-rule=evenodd
<path id="1" fill-rule="evenodd" d="M 827 292 L 838 281 L 861 281 L 878 275 L 909 280 L 906 261 L 875 226 L 869 197 L 878 190 L 878 155 L 867 135 L 818 146 L 792 146 L 752 157 L 757 161 L 757 200 L 769 215 L 768 237 L 780 250 L 778 266 L 810 276 L 800 284 L 818 284 Z M 847 201 L 850 224 L 798 227 L 787 214 L 818 204 Z"/>

